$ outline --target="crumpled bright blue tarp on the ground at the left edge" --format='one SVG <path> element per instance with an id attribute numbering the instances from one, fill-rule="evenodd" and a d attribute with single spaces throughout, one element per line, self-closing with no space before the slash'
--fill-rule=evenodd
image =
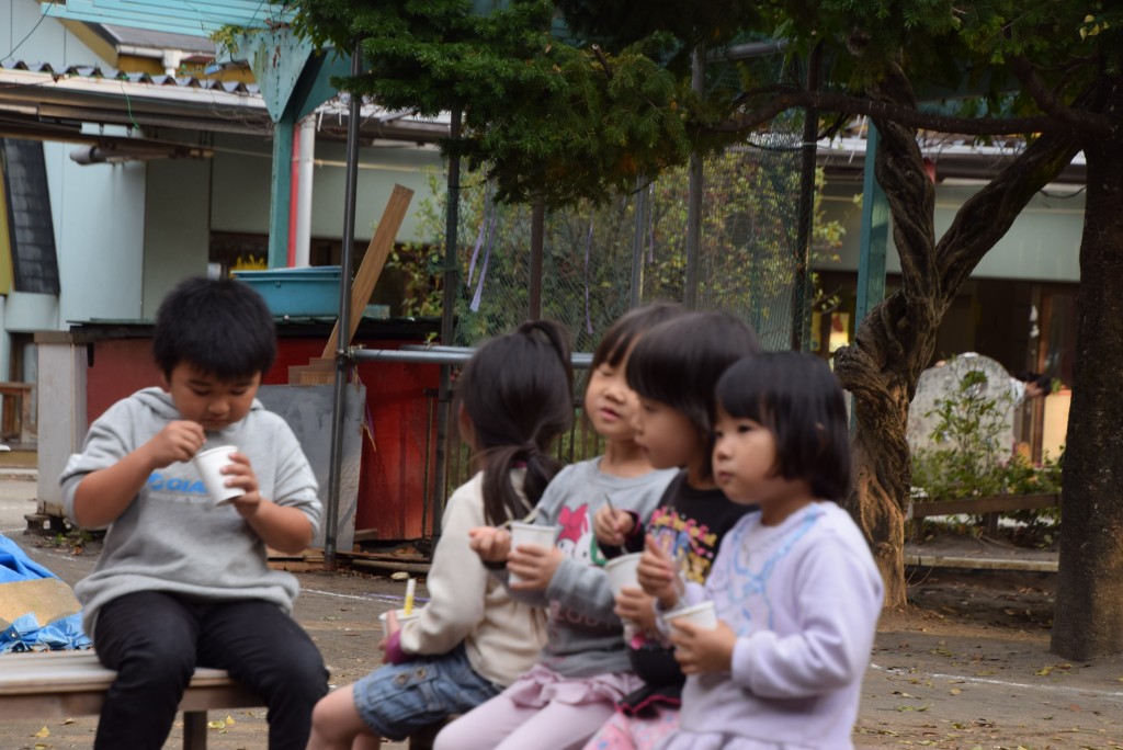
<path id="1" fill-rule="evenodd" d="M 19 546 L 0 534 L 0 597 L 3 584 L 40 578 L 58 578 L 24 552 Z M 44 651 L 90 648 L 90 638 L 82 630 L 82 613 L 61 618 L 40 625 L 35 613 L 15 618 L 0 632 L 0 653 L 8 651 Z"/>

